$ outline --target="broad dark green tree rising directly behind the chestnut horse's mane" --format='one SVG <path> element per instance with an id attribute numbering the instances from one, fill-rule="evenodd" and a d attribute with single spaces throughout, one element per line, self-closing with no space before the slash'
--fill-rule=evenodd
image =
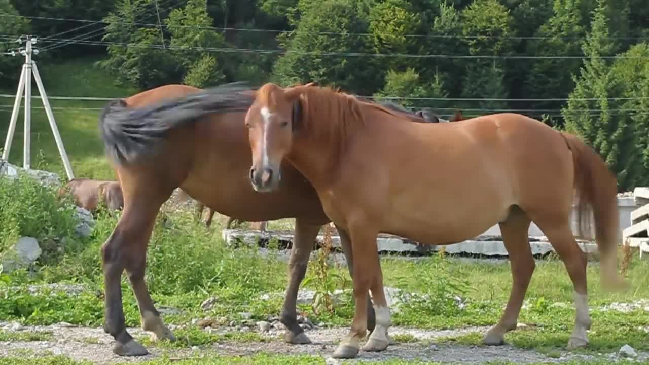
<path id="1" fill-rule="evenodd" d="M 367 37 L 346 34 L 367 33 L 368 17 L 361 4 L 354 0 L 300 0 L 297 29 L 290 38 L 278 37 L 286 53 L 275 63 L 274 79 L 284 85 L 317 81 L 363 95 L 377 90 L 383 79 L 377 75 L 377 62 L 384 60 L 345 55 L 373 53 Z M 323 34 L 326 32 L 342 34 Z"/>

